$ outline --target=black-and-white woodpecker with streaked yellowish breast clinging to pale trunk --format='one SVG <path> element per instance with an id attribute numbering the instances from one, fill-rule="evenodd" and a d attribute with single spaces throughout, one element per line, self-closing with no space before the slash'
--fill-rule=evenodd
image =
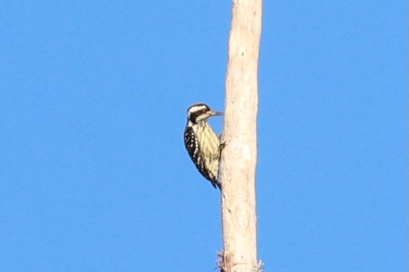
<path id="1" fill-rule="evenodd" d="M 201 175 L 210 180 L 213 187 L 222 189 L 222 184 L 217 180 L 222 145 L 208 124 L 208 119 L 217 115 L 223 115 L 223 112 L 211 110 L 205 103 L 191 105 L 187 109 L 184 138 L 187 153 Z"/>

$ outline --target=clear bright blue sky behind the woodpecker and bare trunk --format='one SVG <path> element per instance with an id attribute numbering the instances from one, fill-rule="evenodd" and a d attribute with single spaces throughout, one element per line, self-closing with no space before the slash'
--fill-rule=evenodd
<path id="1" fill-rule="evenodd" d="M 407 1 L 265 1 L 266 271 L 407 271 Z M 214 271 L 183 146 L 224 108 L 230 1 L 3 1 L 0 271 Z M 212 125 L 222 129 L 222 119 Z"/>

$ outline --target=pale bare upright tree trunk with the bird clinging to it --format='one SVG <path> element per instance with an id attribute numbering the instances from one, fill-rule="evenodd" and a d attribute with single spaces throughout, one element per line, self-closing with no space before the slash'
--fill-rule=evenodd
<path id="1" fill-rule="evenodd" d="M 228 42 L 222 181 L 222 271 L 260 271 L 256 223 L 256 121 L 262 0 L 233 0 Z"/>

